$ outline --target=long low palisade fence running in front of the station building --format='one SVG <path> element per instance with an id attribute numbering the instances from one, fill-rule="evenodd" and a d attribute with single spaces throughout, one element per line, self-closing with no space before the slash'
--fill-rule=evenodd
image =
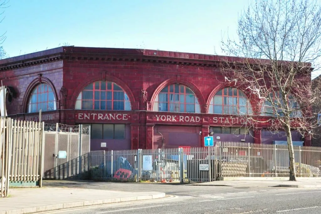
<path id="1" fill-rule="evenodd" d="M 321 148 L 295 146 L 298 177 L 321 177 Z M 90 175 L 103 181 L 209 182 L 288 177 L 286 145 L 217 142 L 213 147 L 91 151 Z"/>

